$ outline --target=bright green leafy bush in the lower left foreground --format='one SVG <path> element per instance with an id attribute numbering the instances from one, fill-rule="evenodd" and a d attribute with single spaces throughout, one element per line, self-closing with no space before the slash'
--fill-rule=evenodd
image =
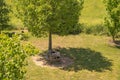
<path id="1" fill-rule="evenodd" d="M 0 34 L 0 80 L 23 80 L 27 56 L 38 53 L 31 45 L 22 45 L 18 37 Z"/>

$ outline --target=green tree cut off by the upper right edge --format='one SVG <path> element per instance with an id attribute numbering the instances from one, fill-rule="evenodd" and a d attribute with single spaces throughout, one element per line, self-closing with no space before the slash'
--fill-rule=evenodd
<path id="1" fill-rule="evenodd" d="M 120 0 L 104 0 L 108 16 L 105 18 L 105 23 L 112 36 L 113 41 L 120 32 Z"/>

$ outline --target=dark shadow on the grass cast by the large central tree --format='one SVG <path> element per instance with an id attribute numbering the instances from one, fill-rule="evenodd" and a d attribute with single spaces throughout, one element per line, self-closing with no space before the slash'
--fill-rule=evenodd
<path id="1" fill-rule="evenodd" d="M 74 60 L 74 63 L 63 68 L 67 71 L 89 70 L 103 72 L 112 70 L 111 60 L 101 55 L 100 52 L 84 48 L 60 48 L 61 55 L 68 56 Z"/>

